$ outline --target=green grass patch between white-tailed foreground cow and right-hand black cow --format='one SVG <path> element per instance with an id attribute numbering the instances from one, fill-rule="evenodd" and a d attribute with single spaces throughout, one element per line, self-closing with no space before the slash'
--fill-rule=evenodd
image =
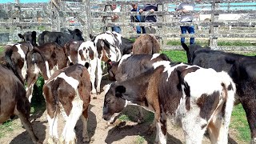
<path id="1" fill-rule="evenodd" d="M 234 106 L 230 127 L 238 130 L 239 140 L 246 143 L 250 142 L 250 128 L 247 122 L 246 112 L 243 110 L 242 104 Z"/>

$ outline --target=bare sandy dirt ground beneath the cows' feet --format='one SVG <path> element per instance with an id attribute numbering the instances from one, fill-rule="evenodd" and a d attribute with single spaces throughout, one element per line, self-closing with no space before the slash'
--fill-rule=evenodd
<path id="1" fill-rule="evenodd" d="M 102 86 L 108 83 L 106 80 L 102 82 Z M 116 121 L 115 126 L 106 127 L 106 121 L 102 119 L 102 104 L 104 100 L 103 92 L 97 96 L 97 99 L 91 99 L 90 102 L 90 115 L 88 122 L 88 132 L 91 138 L 90 143 L 102 144 L 102 143 L 113 143 L 113 144 L 140 144 L 140 143 L 154 143 L 155 131 L 153 134 L 147 134 L 147 130 L 151 122 L 144 122 L 137 124 L 138 109 L 135 106 L 129 106 L 124 110 L 124 114 L 128 115 L 131 121 L 120 122 Z M 150 115 L 145 110 L 145 115 Z M 151 114 L 152 115 L 152 114 Z M 46 119 L 46 110 L 42 110 L 42 113 L 34 114 L 31 116 L 35 118 L 32 122 L 35 134 L 45 144 L 49 137 L 49 126 Z M 1 144 L 30 144 L 32 141 L 28 136 L 26 130 L 22 127 L 19 119 L 14 120 L 15 128 L 10 133 L 6 134 L 4 138 L 0 139 Z M 65 122 L 62 119 L 62 115 L 58 121 L 58 134 L 61 134 L 61 130 Z M 184 137 L 182 129 L 173 126 L 168 122 L 168 144 L 180 144 L 184 143 Z M 78 120 L 75 127 L 78 143 L 82 142 L 82 121 Z M 230 143 L 242 143 L 236 140 L 234 130 L 230 130 Z M 144 139 L 144 140 L 143 140 Z M 209 138 L 204 138 L 204 144 L 210 143 Z"/>

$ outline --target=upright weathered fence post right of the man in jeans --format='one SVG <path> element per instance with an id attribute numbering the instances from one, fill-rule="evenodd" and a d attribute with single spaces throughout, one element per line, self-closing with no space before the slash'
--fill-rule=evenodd
<path id="1" fill-rule="evenodd" d="M 211 7 L 212 7 L 212 11 L 218 10 L 219 9 L 219 2 L 212 2 Z M 217 22 L 218 21 L 218 16 L 219 16 L 219 14 L 212 13 L 211 14 L 211 22 Z M 214 36 L 214 34 L 218 34 L 218 26 L 211 25 L 210 26 L 210 34 L 212 34 L 211 37 L 210 37 L 210 41 L 209 41 L 210 48 L 217 49 L 218 36 Z"/>

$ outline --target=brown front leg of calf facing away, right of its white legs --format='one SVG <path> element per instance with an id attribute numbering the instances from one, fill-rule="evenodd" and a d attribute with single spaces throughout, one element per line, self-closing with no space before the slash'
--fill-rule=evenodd
<path id="1" fill-rule="evenodd" d="M 88 131 L 87 131 L 87 122 L 88 122 L 88 107 L 86 108 L 86 110 L 84 110 L 82 112 L 82 116 L 81 116 L 81 119 L 82 119 L 82 124 L 83 124 L 83 127 L 82 127 L 82 138 L 83 138 L 83 142 L 90 142 L 90 137 L 88 135 Z"/>

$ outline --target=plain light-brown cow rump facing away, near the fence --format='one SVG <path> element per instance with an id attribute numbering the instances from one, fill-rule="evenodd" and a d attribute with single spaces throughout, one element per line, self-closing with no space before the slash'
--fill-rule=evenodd
<path id="1" fill-rule="evenodd" d="M 160 51 L 160 44 L 154 35 L 142 34 L 136 38 L 133 45 L 133 54 L 157 54 Z"/>

